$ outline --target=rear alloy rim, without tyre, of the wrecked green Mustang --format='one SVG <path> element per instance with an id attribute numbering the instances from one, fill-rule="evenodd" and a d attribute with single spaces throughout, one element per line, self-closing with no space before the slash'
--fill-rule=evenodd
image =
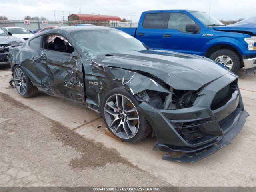
<path id="1" fill-rule="evenodd" d="M 14 71 L 14 83 L 18 92 L 21 95 L 26 94 L 26 90 L 27 90 L 26 78 L 20 68 L 16 68 L 16 70 Z"/>

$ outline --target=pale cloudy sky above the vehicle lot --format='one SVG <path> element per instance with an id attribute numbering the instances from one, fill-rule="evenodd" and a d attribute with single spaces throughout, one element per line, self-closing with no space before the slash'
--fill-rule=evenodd
<path id="1" fill-rule="evenodd" d="M 114 15 L 138 22 L 146 10 L 192 9 L 209 12 L 210 0 L 0 0 L 0 15 L 8 19 L 43 16 L 48 20 L 67 20 L 69 14 Z M 80 10 L 79 10 L 80 9 Z M 255 0 L 211 0 L 210 14 L 218 20 L 237 20 L 256 16 Z"/>

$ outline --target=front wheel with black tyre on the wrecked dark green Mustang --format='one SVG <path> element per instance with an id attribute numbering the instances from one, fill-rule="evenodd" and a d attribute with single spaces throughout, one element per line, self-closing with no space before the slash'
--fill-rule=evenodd
<path id="1" fill-rule="evenodd" d="M 121 140 L 138 142 L 152 131 L 146 117 L 137 110 L 140 103 L 124 88 L 108 92 L 102 103 L 102 116 L 108 130 Z"/>

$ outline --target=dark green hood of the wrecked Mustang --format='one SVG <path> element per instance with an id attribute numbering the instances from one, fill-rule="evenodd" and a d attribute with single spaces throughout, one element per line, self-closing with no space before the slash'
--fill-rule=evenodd
<path id="1" fill-rule="evenodd" d="M 122 52 L 92 60 L 104 66 L 147 72 L 180 90 L 198 90 L 229 73 L 208 58 L 160 50 Z"/>

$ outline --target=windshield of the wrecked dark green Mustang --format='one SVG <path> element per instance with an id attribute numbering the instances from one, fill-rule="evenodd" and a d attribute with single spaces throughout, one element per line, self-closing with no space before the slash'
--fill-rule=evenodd
<path id="1" fill-rule="evenodd" d="M 85 30 L 73 37 L 84 54 L 90 58 L 133 50 L 146 50 L 136 38 L 118 30 Z"/>

